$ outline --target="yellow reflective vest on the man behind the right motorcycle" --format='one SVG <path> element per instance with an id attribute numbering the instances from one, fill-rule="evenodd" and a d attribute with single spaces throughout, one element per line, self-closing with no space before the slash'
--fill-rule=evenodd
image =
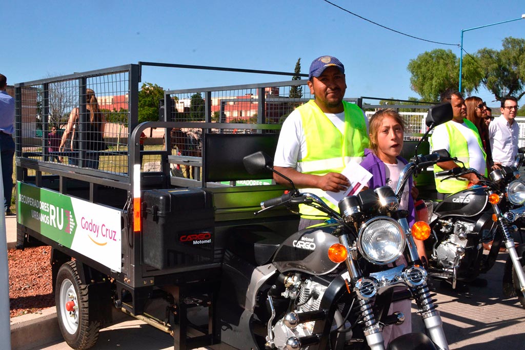
<path id="1" fill-rule="evenodd" d="M 468 119 L 463 119 L 463 122 L 470 130 L 472 130 L 472 133 L 474 133 L 474 136 L 478 140 L 479 148 L 481 149 L 481 152 L 483 152 L 483 158 L 486 160 L 487 155 L 485 153 L 485 150 L 483 149 L 483 144 L 481 143 L 481 138 L 479 137 L 478 129 L 476 128 L 474 123 L 472 123 Z M 465 163 L 465 167 L 468 168 L 470 155 L 468 152 L 467 139 L 465 138 L 465 136 L 463 136 L 463 133 L 461 133 L 461 131 L 458 130 L 455 124 L 457 123 L 453 120 L 447 121 L 444 124 L 448 132 L 448 140 L 450 145 L 449 153 L 451 157 L 456 157 L 458 160 Z M 430 138 L 430 145 L 432 145 L 432 137 Z M 437 171 L 442 170 L 443 169 L 439 168 L 437 165 L 434 165 L 434 174 Z M 434 180 L 436 181 L 436 189 L 439 193 L 456 193 L 467 189 L 468 181 L 466 180 L 456 180 L 454 178 L 450 178 L 441 181 L 442 179 L 443 177 L 434 176 Z"/>

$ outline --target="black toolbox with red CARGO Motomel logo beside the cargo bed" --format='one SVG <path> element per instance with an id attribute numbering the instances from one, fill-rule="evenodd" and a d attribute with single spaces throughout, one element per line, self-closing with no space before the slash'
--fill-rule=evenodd
<path id="1" fill-rule="evenodd" d="M 142 197 L 144 263 L 155 269 L 220 262 L 211 196 L 200 189 L 148 190 Z"/>

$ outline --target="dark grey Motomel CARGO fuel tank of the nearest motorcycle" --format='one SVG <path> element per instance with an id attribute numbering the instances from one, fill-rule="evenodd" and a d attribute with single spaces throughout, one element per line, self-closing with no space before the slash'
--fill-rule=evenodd
<path id="1" fill-rule="evenodd" d="M 300 271 L 323 275 L 333 271 L 339 264 L 328 258 L 328 249 L 339 239 L 331 234 L 337 225 L 308 228 L 289 236 L 279 246 L 274 265 L 279 272 Z"/>

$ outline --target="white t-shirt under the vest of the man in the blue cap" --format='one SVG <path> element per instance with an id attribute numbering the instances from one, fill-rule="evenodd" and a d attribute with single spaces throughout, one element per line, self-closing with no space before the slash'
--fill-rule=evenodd
<path id="1" fill-rule="evenodd" d="M 325 116 L 338 128 L 341 134 L 344 134 L 344 112 L 337 114 L 325 113 Z M 368 118 L 366 118 L 364 112 L 363 118 L 366 124 L 366 134 L 368 135 Z M 300 112 L 296 109 L 282 123 L 275 151 L 274 166 L 297 169 L 297 161 L 303 159 L 306 154 L 307 147 L 302 129 L 302 118 Z"/>

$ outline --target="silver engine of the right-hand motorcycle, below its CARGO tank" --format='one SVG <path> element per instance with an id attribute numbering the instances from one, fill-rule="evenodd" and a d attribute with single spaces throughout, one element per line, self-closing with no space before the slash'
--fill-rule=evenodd
<path id="1" fill-rule="evenodd" d="M 448 233 L 448 238 L 435 249 L 437 262 L 444 267 L 454 266 L 454 262 L 465 254 L 468 245 L 468 235 L 474 233 L 475 223 L 457 220 L 442 225 L 442 232 Z M 457 261 L 456 261 L 457 263 Z"/>

